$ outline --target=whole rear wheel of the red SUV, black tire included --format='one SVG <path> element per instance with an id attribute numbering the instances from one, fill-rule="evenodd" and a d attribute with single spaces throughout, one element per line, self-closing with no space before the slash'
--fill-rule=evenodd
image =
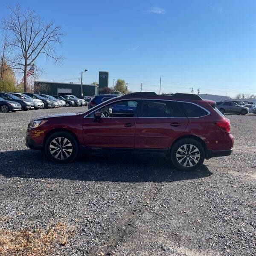
<path id="1" fill-rule="evenodd" d="M 186 154 L 185 151 L 187 152 L 189 148 L 192 154 L 190 154 L 191 157 L 188 159 L 188 154 Z M 204 147 L 201 143 L 194 139 L 188 138 L 178 140 L 173 145 L 171 150 L 172 163 L 177 169 L 180 169 L 181 171 L 194 171 L 198 169 L 204 163 L 204 159 Z"/>

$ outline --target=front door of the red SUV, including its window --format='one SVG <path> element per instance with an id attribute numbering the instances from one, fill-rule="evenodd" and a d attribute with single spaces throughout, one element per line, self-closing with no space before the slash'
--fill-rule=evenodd
<path id="1" fill-rule="evenodd" d="M 134 112 L 113 112 L 114 105 L 136 105 Z M 135 125 L 140 100 L 122 100 L 109 103 L 96 109 L 84 117 L 84 145 L 90 148 L 134 148 Z M 100 111 L 99 120 L 94 119 L 94 113 Z"/>

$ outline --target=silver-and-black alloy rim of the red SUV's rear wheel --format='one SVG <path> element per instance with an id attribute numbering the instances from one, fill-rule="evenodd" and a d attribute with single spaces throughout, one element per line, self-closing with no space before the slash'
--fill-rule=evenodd
<path id="1" fill-rule="evenodd" d="M 195 145 L 184 144 L 178 148 L 176 159 L 180 165 L 184 167 L 192 167 L 199 162 L 200 151 Z"/>

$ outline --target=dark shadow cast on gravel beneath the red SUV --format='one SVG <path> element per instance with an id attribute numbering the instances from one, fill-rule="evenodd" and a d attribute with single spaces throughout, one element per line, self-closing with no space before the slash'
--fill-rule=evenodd
<path id="1" fill-rule="evenodd" d="M 35 179 L 67 179 L 112 182 L 172 182 L 212 175 L 203 165 L 195 172 L 181 172 L 170 160 L 134 155 L 82 155 L 73 163 L 50 162 L 34 150 L 0 152 L 0 175 Z"/>

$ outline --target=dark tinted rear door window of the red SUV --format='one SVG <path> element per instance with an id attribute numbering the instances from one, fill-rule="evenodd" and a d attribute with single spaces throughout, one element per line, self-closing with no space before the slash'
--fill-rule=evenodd
<path id="1" fill-rule="evenodd" d="M 145 100 L 141 117 L 185 117 L 177 102 Z"/>

